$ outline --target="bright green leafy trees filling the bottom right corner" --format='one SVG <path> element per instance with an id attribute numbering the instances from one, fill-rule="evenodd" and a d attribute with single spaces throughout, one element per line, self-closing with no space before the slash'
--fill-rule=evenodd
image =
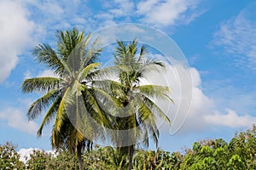
<path id="1" fill-rule="evenodd" d="M 256 126 L 236 133 L 226 143 L 223 139 L 203 140 L 187 150 L 181 169 L 255 169 Z"/>

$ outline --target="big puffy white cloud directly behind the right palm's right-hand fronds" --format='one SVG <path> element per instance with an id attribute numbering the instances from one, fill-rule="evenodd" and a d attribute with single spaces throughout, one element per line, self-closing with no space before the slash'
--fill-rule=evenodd
<path id="1" fill-rule="evenodd" d="M 168 111 L 167 115 L 171 118 L 170 132 L 173 134 L 179 130 L 185 133 L 199 131 L 205 126 L 202 116 L 211 114 L 213 106 L 212 100 L 203 94 L 200 88 L 199 71 L 195 68 L 185 68 L 182 65 L 168 65 L 166 73 L 161 74 L 152 75 L 150 80 L 153 83 L 171 87 L 174 104 L 169 105 L 168 111 L 167 104 L 160 103 L 160 107 L 163 111 Z M 166 129 L 166 124 L 163 128 Z"/>

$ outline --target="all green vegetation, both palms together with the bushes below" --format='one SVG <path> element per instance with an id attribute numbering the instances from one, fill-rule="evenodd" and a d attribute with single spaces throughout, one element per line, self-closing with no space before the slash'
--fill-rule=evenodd
<path id="1" fill-rule="evenodd" d="M 0 145 L 1 169 L 256 169 L 255 125 L 236 133 L 230 143 L 202 140 L 172 154 L 158 148 L 158 119 L 171 121 L 155 101 L 172 103 L 170 88 L 145 81 L 148 73 L 164 71 L 164 63 L 148 58 L 148 49 L 135 39 L 117 41 L 114 65 L 101 68 L 102 48 L 90 36 L 76 28 L 57 31 L 55 48 L 33 48 L 35 60 L 55 76 L 28 78 L 20 89 L 43 94 L 30 105 L 27 117 L 44 115 L 38 137 L 53 124 L 50 141 L 56 152 L 34 150 L 20 161 L 8 142 Z M 147 150 L 149 139 L 157 150 Z M 112 146 L 95 144 L 92 150 L 99 140 L 110 140 Z"/>

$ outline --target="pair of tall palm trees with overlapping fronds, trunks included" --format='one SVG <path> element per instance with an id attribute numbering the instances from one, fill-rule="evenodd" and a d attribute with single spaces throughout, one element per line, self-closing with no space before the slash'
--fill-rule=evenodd
<path id="1" fill-rule="evenodd" d="M 172 102 L 169 88 L 141 84 L 148 72 L 160 71 L 164 64 L 146 58 L 144 46 L 137 54 L 136 40 L 130 44 L 118 41 L 115 65 L 100 68 L 102 48 L 97 48 L 97 41 L 90 42 L 90 34 L 73 28 L 57 31 L 55 37 L 55 49 L 39 44 L 32 50 L 35 60 L 54 71 L 55 77 L 32 77 L 22 83 L 23 93 L 43 93 L 30 105 L 28 120 L 44 113 L 38 136 L 54 120 L 52 148 L 77 153 L 79 169 L 84 169 L 85 145 L 89 151 L 94 141 L 110 139 L 118 153 L 116 163 L 123 168 L 129 155 L 131 170 L 136 144 L 148 147 L 150 137 L 158 144 L 157 117 L 171 123 L 153 100 Z M 116 75 L 118 81 L 109 79 L 109 75 Z"/>

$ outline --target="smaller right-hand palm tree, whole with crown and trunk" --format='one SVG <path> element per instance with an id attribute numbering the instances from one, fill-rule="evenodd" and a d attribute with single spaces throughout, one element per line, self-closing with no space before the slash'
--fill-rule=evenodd
<path id="1" fill-rule="evenodd" d="M 156 117 L 171 123 L 160 107 L 154 104 L 153 99 L 167 99 L 170 102 L 172 99 L 168 97 L 168 87 L 141 84 L 148 72 L 160 71 L 165 65 L 156 59 L 145 59 L 145 46 L 142 46 L 137 54 L 137 40 L 129 44 L 121 41 L 117 43 L 114 64 L 119 82 L 110 82 L 109 86 L 105 86 L 109 89 L 105 90 L 111 92 L 119 105 L 119 110 L 115 110 L 118 113 L 112 117 L 113 129 L 117 133 L 113 133 L 111 138 L 113 144 L 118 146 L 120 155 L 129 155 L 131 169 L 132 156 L 138 141 L 143 141 L 148 147 L 148 139 L 151 137 L 155 144 L 158 144 L 159 129 L 156 126 Z"/>

